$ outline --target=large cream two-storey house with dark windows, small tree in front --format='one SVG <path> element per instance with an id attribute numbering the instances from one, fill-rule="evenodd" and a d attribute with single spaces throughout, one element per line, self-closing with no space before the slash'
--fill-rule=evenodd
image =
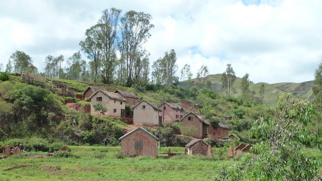
<path id="1" fill-rule="evenodd" d="M 99 89 L 89 99 L 91 100 L 91 114 L 97 114 L 94 110 L 95 104 L 102 104 L 107 108 L 106 115 L 125 117 L 126 99 L 119 94 Z"/>

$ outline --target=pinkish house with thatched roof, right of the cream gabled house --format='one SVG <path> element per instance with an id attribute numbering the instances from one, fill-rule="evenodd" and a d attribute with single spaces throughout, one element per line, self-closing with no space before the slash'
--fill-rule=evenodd
<path id="1" fill-rule="evenodd" d="M 182 106 L 174 103 L 165 102 L 159 105 L 159 109 L 163 110 L 164 121 L 179 121 L 183 117 L 184 109 Z"/>

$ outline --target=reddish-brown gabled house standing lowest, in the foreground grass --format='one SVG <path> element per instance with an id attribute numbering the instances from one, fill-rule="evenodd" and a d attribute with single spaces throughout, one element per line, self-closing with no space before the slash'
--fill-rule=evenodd
<path id="1" fill-rule="evenodd" d="M 120 137 L 121 151 L 128 156 L 149 155 L 157 157 L 159 139 L 142 127 L 138 127 Z"/>

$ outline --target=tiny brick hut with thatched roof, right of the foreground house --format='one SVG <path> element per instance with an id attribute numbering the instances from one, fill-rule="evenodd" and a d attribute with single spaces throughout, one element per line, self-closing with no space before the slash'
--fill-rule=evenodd
<path id="1" fill-rule="evenodd" d="M 202 154 L 207 155 L 208 153 L 208 144 L 204 142 L 202 139 L 194 139 L 186 144 L 187 154 L 188 155 L 196 155 Z"/>

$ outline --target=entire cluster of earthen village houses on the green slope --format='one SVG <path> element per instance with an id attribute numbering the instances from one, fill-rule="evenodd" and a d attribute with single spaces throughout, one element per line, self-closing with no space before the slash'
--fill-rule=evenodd
<path id="1" fill-rule="evenodd" d="M 107 108 L 108 116 L 115 117 L 131 117 L 133 124 L 142 126 L 158 126 L 162 122 L 182 123 L 182 127 L 192 127 L 194 137 L 190 143 L 186 145 L 187 154 L 204 154 L 209 155 L 209 145 L 202 139 L 206 136 L 222 138 L 228 136 L 230 128 L 223 122 L 219 121 L 219 127 L 213 127 L 200 115 L 194 112 L 185 114 L 182 106 L 164 102 L 160 105 L 155 105 L 152 102 L 139 100 L 139 98 L 130 92 L 115 90 L 109 92 L 97 87 L 89 87 L 84 92 L 84 98 L 91 101 L 91 114 L 97 114 L 94 110 L 95 104 L 102 104 Z M 133 114 L 126 115 L 125 105 L 130 105 Z M 231 136 L 231 135 L 229 135 Z M 138 127 L 121 138 L 121 150 L 125 155 L 151 155 L 157 156 L 158 138 L 146 131 L 142 127 Z M 195 147 L 198 147 L 196 149 Z"/>

